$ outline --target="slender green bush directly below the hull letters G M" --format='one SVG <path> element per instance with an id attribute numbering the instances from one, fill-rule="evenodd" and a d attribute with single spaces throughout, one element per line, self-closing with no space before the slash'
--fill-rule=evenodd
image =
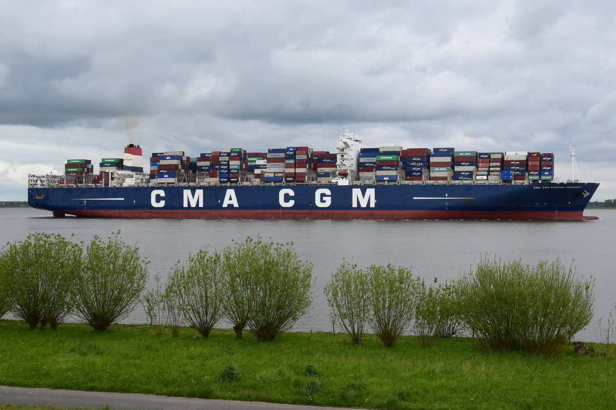
<path id="1" fill-rule="evenodd" d="M 331 320 L 354 344 L 362 342 L 368 322 L 370 285 L 365 271 L 346 261 L 331 275 L 323 291 L 331 308 Z"/>

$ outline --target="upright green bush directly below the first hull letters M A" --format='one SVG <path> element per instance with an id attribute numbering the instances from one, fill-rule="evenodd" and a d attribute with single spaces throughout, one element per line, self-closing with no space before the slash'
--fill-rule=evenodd
<path id="1" fill-rule="evenodd" d="M 191 328 L 208 337 L 223 316 L 224 277 L 221 255 L 201 249 L 188 256 L 185 266 L 176 267 L 169 275 L 170 294 L 179 303 L 179 310 Z"/>

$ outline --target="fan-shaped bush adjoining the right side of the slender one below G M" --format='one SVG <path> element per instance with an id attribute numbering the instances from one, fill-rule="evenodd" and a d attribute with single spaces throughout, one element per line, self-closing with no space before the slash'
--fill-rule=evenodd
<path id="1" fill-rule="evenodd" d="M 371 305 L 370 326 L 386 346 L 391 346 L 409 328 L 423 292 L 423 280 L 411 270 L 394 265 L 368 268 Z"/>

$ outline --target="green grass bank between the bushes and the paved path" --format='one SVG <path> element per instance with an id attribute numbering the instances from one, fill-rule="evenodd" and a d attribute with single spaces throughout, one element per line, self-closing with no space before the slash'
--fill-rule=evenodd
<path id="1" fill-rule="evenodd" d="M 29 331 L 0 321 L 0 385 L 378 409 L 612 408 L 616 361 L 564 353 L 482 353 L 472 339 L 419 347 L 374 335 L 283 333 L 267 342 L 214 329 L 155 336 L 145 326 Z M 598 348 L 601 351 L 602 348 Z M 309 372 L 307 368 L 318 369 Z M 225 369 L 241 377 L 221 380 Z"/>

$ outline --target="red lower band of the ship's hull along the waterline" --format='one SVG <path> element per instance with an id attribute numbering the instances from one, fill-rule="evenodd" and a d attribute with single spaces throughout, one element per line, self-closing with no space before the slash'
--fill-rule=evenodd
<path id="1" fill-rule="evenodd" d="M 180 210 L 67 210 L 54 211 L 91 218 L 130 219 L 325 219 L 325 220 L 407 220 L 407 219 L 524 219 L 524 220 L 593 220 L 582 211 L 254 211 L 229 209 L 212 211 Z"/>

